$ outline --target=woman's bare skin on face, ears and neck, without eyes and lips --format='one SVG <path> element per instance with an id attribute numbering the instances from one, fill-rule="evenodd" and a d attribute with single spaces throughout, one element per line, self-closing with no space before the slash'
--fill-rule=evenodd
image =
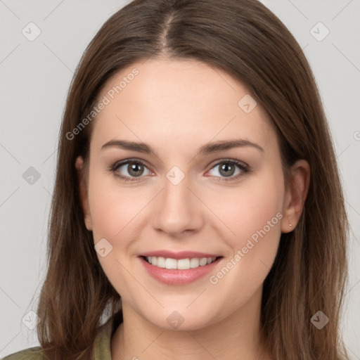
<path id="1" fill-rule="evenodd" d="M 293 231 L 309 188 L 309 165 L 299 160 L 285 187 L 276 133 L 258 104 L 245 113 L 238 101 L 249 94 L 226 72 L 196 60 L 147 60 L 122 69 L 99 98 L 127 76 L 139 75 L 94 120 L 89 172 L 77 158 L 82 207 L 94 243 L 113 250 L 98 255 L 122 296 L 124 322 L 111 339 L 112 359 L 271 359 L 259 340 L 262 285 L 274 263 L 281 232 Z M 148 143 L 158 156 L 103 144 L 115 139 Z M 257 143 L 196 155 L 205 143 L 245 139 Z M 126 159 L 146 162 L 138 182 L 124 182 L 109 167 Z M 245 162 L 230 176 L 221 160 Z M 166 177 L 179 167 L 176 186 Z M 128 165 L 117 174 L 131 177 Z M 139 170 L 138 170 L 139 171 Z M 141 173 L 141 171 L 139 172 Z M 234 179 L 241 174 L 238 179 Z M 217 181 L 219 180 L 219 181 Z M 283 218 L 245 256 L 210 283 L 252 234 L 280 213 Z M 289 225 L 291 224 L 291 226 Z M 139 255 L 151 250 L 193 250 L 223 256 L 209 276 L 187 285 L 165 285 L 143 269 Z M 174 329 L 167 317 L 184 319 Z"/>

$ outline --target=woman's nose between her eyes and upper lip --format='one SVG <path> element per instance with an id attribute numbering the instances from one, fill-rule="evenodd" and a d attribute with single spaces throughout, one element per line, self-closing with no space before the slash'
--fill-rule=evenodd
<path id="1" fill-rule="evenodd" d="M 200 231 L 204 224 L 204 205 L 189 185 L 186 176 L 176 185 L 165 178 L 164 188 L 156 197 L 154 229 L 174 238 L 181 238 L 189 231 Z"/>

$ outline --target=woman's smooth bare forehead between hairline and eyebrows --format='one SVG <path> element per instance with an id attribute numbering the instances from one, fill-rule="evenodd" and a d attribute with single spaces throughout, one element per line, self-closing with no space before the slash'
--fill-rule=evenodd
<path id="1" fill-rule="evenodd" d="M 274 141 L 266 113 L 246 86 L 197 60 L 133 63 L 105 84 L 98 99 L 106 105 L 94 120 L 91 142 L 96 148 L 117 138 L 141 139 L 154 148 L 229 137 L 264 147 Z"/>

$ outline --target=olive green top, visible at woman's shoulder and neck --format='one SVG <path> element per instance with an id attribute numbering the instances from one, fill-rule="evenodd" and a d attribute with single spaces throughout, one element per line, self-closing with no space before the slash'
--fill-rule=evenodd
<path id="1" fill-rule="evenodd" d="M 96 339 L 94 341 L 94 360 L 112 360 L 110 352 L 110 340 L 117 329 L 117 326 L 122 322 L 122 313 L 117 312 L 98 330 Z M 20 350 L 0 360 L 47 360 L 41 347 L 30 347 L 28 349 Z"/>

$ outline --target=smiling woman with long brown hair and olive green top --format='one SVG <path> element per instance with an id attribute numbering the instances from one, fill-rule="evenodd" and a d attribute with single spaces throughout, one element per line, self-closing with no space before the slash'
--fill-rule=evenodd
<path id="1" fill-rule="evenodd" d="M 347 358 L 333 144 L 258 1 L 115 13 L 73 79 L 53 194 L 41 348 L 5 359 Z"/>

